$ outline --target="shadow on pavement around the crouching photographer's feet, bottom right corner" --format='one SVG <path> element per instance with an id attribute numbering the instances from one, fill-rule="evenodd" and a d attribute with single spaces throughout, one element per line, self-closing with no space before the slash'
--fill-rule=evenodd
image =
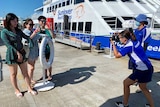
<path id="1" fill-rule="evenodd" d="M 157 82 L 160 81 L 160 72 L 153 74 L 152 81 L 148 83 L 148 89 L 151 90 L 152 98 L 154 100 L 155 107 L 160 107 L 160 85 Z M 131 86 L 132 87 L 132 86 Z M 123 94 L 123 92 L 122 92 Z M 123 95 L 115 98 L 108 99 L 105 103 L 99 107 L 117 107 L 115 102 L 122 101 Z M 131 93 L 129 98 L 129 107 L 145 107 L 148 103 L 143 93 Z"/>

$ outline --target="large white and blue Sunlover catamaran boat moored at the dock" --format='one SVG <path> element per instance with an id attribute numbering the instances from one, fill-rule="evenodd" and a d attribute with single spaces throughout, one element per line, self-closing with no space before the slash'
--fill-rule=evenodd
<path id="1" fill-rule="evenodd" d="M 125 27 L 134 28 L 134 18 L 146 14 L 153 41 L 147 55 L 160 59 L 160 0 L 44 0 L 35 15 L 44 15 L 57 33 L 56 40 L 73 46 L 110 47 L 109 37 Z"/>

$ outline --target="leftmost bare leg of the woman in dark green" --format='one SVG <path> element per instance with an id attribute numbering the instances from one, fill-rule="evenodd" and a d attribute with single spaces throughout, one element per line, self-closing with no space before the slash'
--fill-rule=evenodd
<path id="1" fill-rule="evenodd" d="M 17 68 L 17 64 L 9 65 L 11 84 L 14 87 L 15 93 L 20 93 L 17 85 Z"/>

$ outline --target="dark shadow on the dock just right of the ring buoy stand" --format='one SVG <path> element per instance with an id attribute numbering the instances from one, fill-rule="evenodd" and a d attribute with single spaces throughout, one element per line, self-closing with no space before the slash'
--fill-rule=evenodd
<path id="1" fill-rule="evenodd" d="M 90 78 L 95 71 L 95 66 L 71 68 L 66 72 L 52 75 L 52 82 L 55 87 L 62 87 L 67 84 L 77 84 Z"/>

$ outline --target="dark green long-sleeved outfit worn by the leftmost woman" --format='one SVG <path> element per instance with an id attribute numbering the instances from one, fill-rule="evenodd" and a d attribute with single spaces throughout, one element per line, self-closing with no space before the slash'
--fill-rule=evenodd
<path id="1" fill-rule="evenodd" d="M 3 29 L 1 31 L 1 38 L 4 44 L 7 47 L 6 51 L 6 63 L 7 64 L 15 64 L 17 63 L 17 51 L 20 52 L 20 50 L 23 49 L 23 44 L 22 44 L 22 37 L 27 39 L 28 42 L 30 43 L 30 47 L 33 47 L 33 43 L 31 39 L 26 36 L 20 29 L 16 31 L 16 34 L 7 30 Z M 23 59 L 25 59 L 25 55 L 23 55 Z"/>

